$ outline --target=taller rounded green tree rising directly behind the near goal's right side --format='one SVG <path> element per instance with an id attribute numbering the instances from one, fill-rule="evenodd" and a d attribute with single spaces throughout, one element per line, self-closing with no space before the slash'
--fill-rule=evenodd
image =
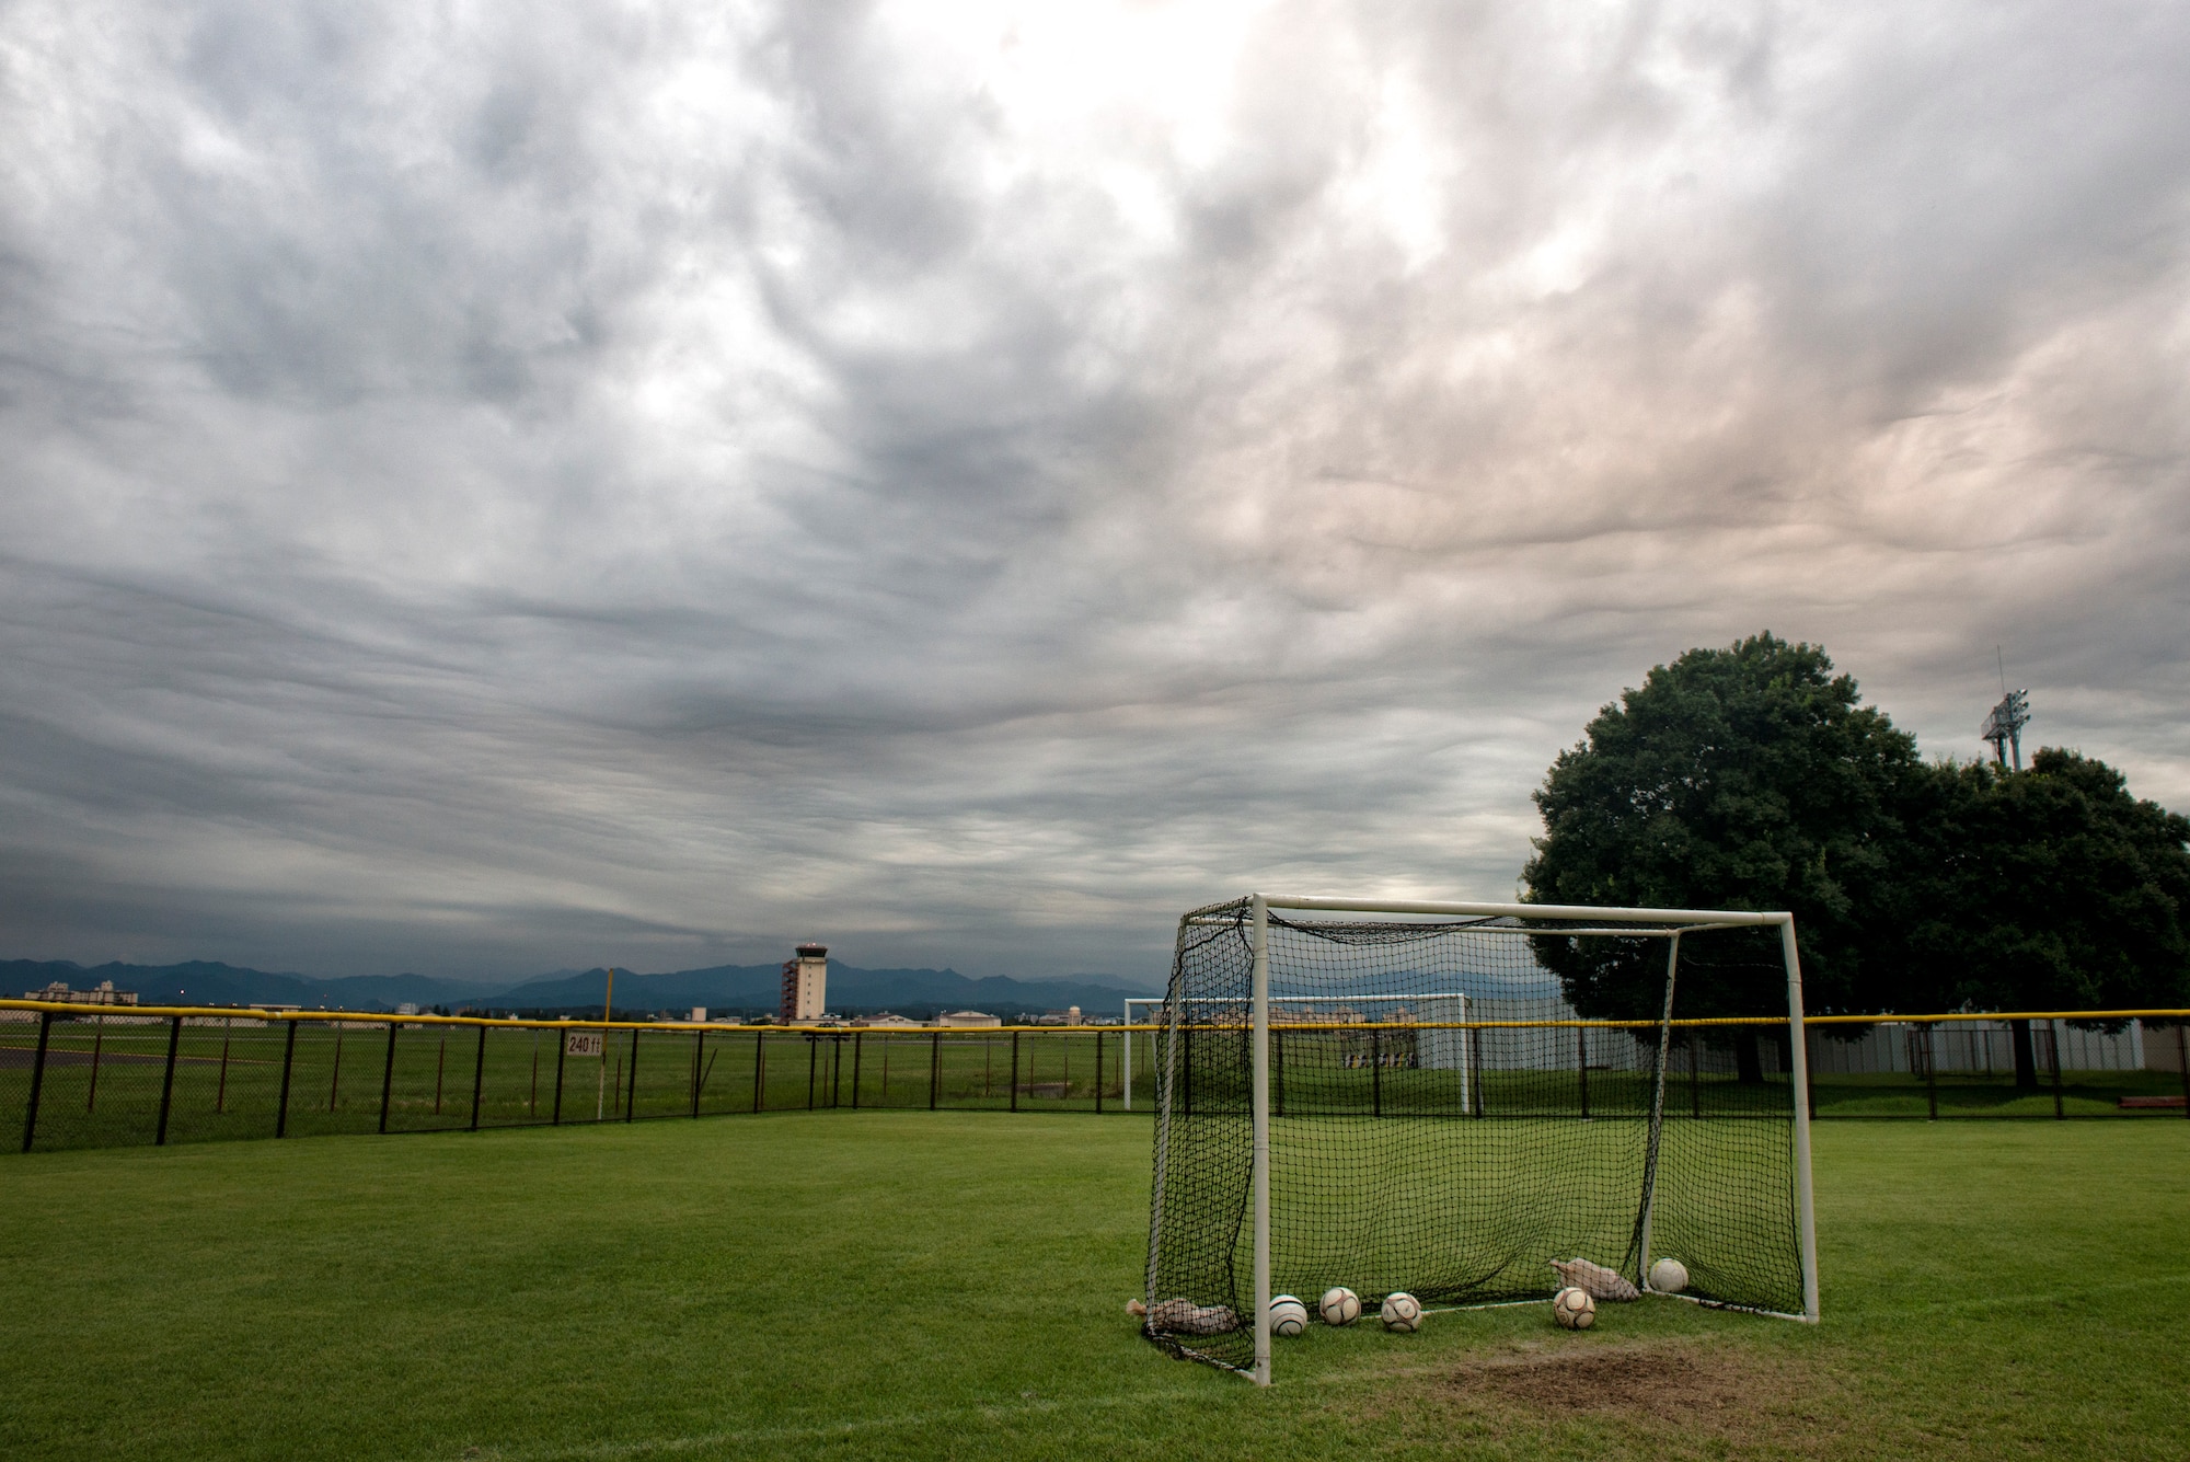
<path id="1" fill-rule="evenodd" d="M 1787 908 L 1811 1009 L 1875 1009 L 1894 965 L 1899 810 L 1927 768 L 1916 742 L 1820 646 L 1754 635 L 1688 650 L 1603 707 L 1535 792 L 1544 836 L 1526 902 Z M 1540 941 L 1583 1016 L 1649 1009 L 1662 948 Z M 1684 1016 L 1785 1011 L 1756 961 L 1682 961 Z M 1754 1046 L 1741 1048 L 1754 1070 Z"/>

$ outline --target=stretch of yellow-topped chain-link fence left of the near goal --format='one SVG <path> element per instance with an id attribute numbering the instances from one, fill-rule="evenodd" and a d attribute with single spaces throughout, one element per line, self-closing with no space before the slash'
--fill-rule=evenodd
<path id="1" fill-rule="evenodd" d="M 20 1151 L 815 1107 L 1106 1112 L 1126 1033 L 0 1005 Z"/>

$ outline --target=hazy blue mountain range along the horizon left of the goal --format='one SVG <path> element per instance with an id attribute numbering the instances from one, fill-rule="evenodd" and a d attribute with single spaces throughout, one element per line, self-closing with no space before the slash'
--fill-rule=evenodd
<path id="1" fill-rule="evenodd" d="M 526 981 L 447 981 L 425 974 L 353 974 L 313 978 L 245 970 L 219 961 L 182 965 L 79 965 L 74 961 L 0 961 L 0 994 L 44 989 L 64 981 L 88 989 L 114 981 L 145 1005 L 302 1005 L 304 1009 L 392 1011 L 399 1005 L 491 1007 L 497 1011 L 598 1011 L 607 970 L 556 970 Z M 666 974 L 615 974 L 618 1011 L 773 1011 L 782 965 L 712 965 Z M 1117 974 L 1075 974 L 1056 981 L 972 978 L 957 970 L 858 970 L 828 963 L 832 1011 L 979 1009 L 992 1016 L 1040 1013 L 1080 1005 L 1110 1013 L 1128 996 L 1156 994 Z"/>

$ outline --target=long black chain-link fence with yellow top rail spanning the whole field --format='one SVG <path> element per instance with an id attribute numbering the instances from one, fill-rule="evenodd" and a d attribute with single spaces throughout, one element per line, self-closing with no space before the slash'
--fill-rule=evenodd
<path id="1" fill-rule="evenodd" d="M 1818 1118 L 2190 1116 L 2186 1020 L 2190 1011 L 1813 1018 L 1809 1103 Z M 1548 1024 L 1577 1026 L 1581 1112 L 1592 1072 L 1599 1096 L 1651 1079 L 1656 1024 Z M 1710 1110 L 1706 1088 L 1739 1083 L 1739 1024 L 1673 1022 L 1669 1110 Z M 1785 1086 L 1787 1061 L 1772 1044 L 1785 1029 L 1754 1024 L 1778 1026 L 1776 1037 L 1752 1037 L 1754 1070 Z M 1338 1061 L 1347 1092 L 1323 1099 L 1358 1096 L 1369 1116 L 1421 1116 L 1428 1107 L 1384 1103 L 1380 1092 L 1395 1066 L 1437 1066 L 1421 1053 L 1441 1046 L 1378 1040 L 1395 1026 L 1465 1031 L 1467 1070 L 1430 1077 L 1461 1083 L 1443 1105 L 1496 1110 L 1494 1055 L 1509 1035 L 1498 1020 L 1360 1022 L 1321 1037 L 1288 1029 L 1288 1040 L 1360 1033 L 1369 1055 Z M 1143 1072 L 1132 1105 L 1145 1112 L 1152 1026 L 786 1029 L 0 1000 L 0 1151 L 821 1107 L 1121 1112 L 1128 1042 L 1139 1042 Z M 1465 1094 L 1478 1079 L 1480 1094 Z"/>

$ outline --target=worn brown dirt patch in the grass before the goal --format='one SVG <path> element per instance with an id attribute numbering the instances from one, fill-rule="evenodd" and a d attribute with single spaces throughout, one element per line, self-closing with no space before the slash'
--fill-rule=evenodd
<path id="1" fill-rule="evenodd" d="M 1572 1346 L 1461 1366 L 1450 1399 L 1496 1401 L 1537 1414 L 1616 1414 L 1710 1431 L 1750 1431 L 1807 1392 L 1783 1357 L 1732 1346 Z"/>

